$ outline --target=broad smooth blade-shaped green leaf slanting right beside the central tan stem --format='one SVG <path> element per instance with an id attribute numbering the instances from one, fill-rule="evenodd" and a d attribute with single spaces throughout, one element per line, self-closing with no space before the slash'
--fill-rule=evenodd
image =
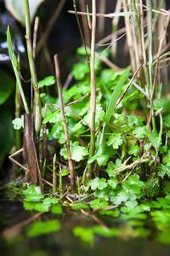
<path id="1" fill-rule="evenodd" d="M 116 84 L 116 88 L 111 95 L 111 101 L 109 102 L 109 107 L 105 113 L 105 123 L 106 124 L 109 123 L 111 116 L 114 113 L 114 110 L 116 107 L 116 102 L 122 94 L 122 87 L 126 83 L 128 77 L 129 77 L 129 69 L 126 69 L 125 72 L 122 73 L 122 76 L 119 79 L 118 83 Z"/>

